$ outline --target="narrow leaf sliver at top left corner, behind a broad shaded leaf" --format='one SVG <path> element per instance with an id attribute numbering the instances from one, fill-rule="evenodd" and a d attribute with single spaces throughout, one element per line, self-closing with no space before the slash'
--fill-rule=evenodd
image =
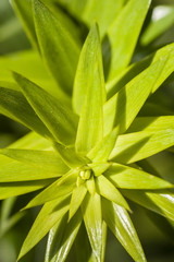
<path id="1" fill-rule="evenodd" d="M 38 48 L 33 12 L 32 12 L 32 0 L 24 0 L 24 1 L 12 0 L 11 2 L 23 23 L 24 29 L 26 31 L 26 34 L 29 40 L 32 41 L 34 47 Z"/>

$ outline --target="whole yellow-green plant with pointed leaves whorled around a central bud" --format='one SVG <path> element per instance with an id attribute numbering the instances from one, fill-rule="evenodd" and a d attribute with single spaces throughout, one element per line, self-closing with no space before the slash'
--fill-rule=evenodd
<path id="1" fill-rule="evenodd" d="M 138 163 L 174 145 L 174 117 L 137 115 L 174 71 L 174 44 L 128 66 L 149 0 L 116 1 L 110 25 L 87 5 L 84 21 L 91 8 L 103 40 L 94 22 L 84 44 L 51 2 L 12 2 L 53 76 L 35 52 L 18 64 L 0 61 L 15 71 L 0 74 L 0 112 L 34 131 L 0 151 L 0 199 L 40 189 L 25 209 L 44 204 L 18 259 L 49 233 L 46 262 L 65 261 L 71 248 L 79 262 L 104 261 L 109 227 L 135 261 L 146 261 L 127 200 L 174 221 L 173 184 Z"/>

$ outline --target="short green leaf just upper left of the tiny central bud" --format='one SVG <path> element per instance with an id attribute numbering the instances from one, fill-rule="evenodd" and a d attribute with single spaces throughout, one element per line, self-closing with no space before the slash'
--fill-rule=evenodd
<path id="1" fill-rule="evenodd" d="M 90 160 L 75 152 L 74 147 L 67 147 L 59 143 L 53 144 L 62 160 L 71 168 L 76 168 L 88 164 Z"/>

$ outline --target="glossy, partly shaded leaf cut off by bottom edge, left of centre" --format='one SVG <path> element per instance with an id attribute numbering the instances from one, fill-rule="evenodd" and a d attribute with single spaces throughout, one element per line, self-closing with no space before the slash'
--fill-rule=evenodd
<path id="1" fill-rule="evenodd" d="M 77 212 L 70 223 L 66 219 L 67 216 L 64 217 L 64 223 L 59 223 L 50 230 L 45 262 L 65 261 L 83 217 L 80 212 Z"/>

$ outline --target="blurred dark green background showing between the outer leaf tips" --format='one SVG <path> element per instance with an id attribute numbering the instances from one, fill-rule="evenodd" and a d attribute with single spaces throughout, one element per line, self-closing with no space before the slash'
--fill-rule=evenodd
<path id="1" fill-rule="evenodd" d="M 70 1 L 57 0 L 64 4 Z M 69 11 L 69 10 L 67 10 Z M 174 41 L 174 1 L 153 0 L 147 15 L 133 61 L 138 61 L 157 48 Z M 3 56 L 11 56 L 30 49 L 32 46 L 16 17 L 10 2 L 0 0 L 0 63 Z M 141 111 L 141 116 L 174 115 L 174 74 L 163 88 L 152 95 Z M 5 147 L 13 141 L 26 134 L 28 130 L 23 126 L 0 115 L 0 147 Z M 174 182 L 174 150 L 170 148 L 148 159 L 157 171 L 167 180 Z M 141 163 L 144 165 L 144 163 Z M 26 237 L 39 209 L 33 209 L 23 214 L 16 212 L 32 198 L 26 194 L 0 202 L 0 262 L 14 262 L 21 245 Z M 174 227 L 171 222 L 164 222 L 158 215 L 132 205 L 133 222 L 138 231 L 148 262 L 174 261 Z M 165 234 L 164 234 L 165 231 Z M 44 261 L 46 238 L 37 245 L 23 262 Z M 73 260 L 73 254 L 69 261 Z M 109 231 L 107 243 L 107 262 L 133 261 L 122 246 Z"/>

